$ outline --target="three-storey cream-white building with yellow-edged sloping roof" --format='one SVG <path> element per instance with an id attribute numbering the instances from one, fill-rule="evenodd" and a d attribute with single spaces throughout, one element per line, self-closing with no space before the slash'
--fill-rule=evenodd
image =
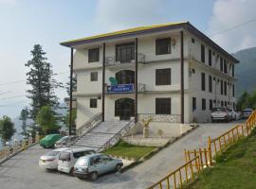
<path id="1" fill-rule="evenodd" d="M 239 61 L 188 22 L 61 44 L 77 77 L 77 129 L 98 112 L 103 121 L 152 117 L 168 126 L 209 122 L 212 107 L 235 106 Z"/>

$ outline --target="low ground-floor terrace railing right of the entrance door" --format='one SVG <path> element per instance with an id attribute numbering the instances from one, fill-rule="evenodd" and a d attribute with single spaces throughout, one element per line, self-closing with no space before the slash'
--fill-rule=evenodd
<path id="1" fill-rule="evenodd" d="M 138 120 L 150 119 L 153 122 L 179 123 L 180 115 L 178 114 L 155 114 L 155 113 L 138 113 Z"/>

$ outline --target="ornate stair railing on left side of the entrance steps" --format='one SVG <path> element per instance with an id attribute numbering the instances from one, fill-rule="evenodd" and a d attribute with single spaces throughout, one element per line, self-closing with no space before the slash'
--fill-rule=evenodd
<path id="1" fill-rule="evenodd" d="M 86 121 L 81 128 L 77 129 L 77 136 L 82 136 L 83 134 L 89 132 L 91 129 L 94 129 L 102 121 L 102 113 L 99 112 L 92 116 L 88 121 Z"/>

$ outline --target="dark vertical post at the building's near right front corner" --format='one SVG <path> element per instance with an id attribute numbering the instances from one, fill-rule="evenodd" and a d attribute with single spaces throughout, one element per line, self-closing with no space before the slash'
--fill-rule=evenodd
<path id="1" fill-rule="evenodd" d="M 182 124 L 184 124 L 184 42 L 183 42 L 183 31 L 180 31 L 180 90 L 181 90 L 180 121 Z"/>

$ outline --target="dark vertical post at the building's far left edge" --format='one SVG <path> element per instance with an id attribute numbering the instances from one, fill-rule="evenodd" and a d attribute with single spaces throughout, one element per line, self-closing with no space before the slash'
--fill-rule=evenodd
<path id="1" fill-rule="evenodd" d="M 70 56 L 70 83 L 69 83 L 69 135 L 72 134 L 72 98 L 73 98 L 73 54 L 74 49 L 71 47 L 71 56 Z"/>

